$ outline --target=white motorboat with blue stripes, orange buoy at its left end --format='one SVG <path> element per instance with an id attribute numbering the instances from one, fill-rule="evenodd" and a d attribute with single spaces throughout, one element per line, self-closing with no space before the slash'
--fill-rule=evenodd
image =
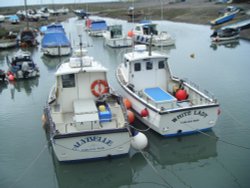
<path id="1" fill-rule="evenodd" d="M 142 21 L 128 33 L 133 38 L 134 42 L 140 44 L 149 44 L 152 37 L 153 46 L 171 46 L 175 44 L 175 39 L 166 31 L 159 32 L 157 24 L 151 21 Z"/>

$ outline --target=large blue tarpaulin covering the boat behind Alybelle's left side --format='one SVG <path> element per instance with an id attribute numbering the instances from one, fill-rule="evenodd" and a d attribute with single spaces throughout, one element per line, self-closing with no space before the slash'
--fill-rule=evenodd
<path id="1" fill-rule="evenodd" d="M 45 35 L 42 39 L 43 48 L 55 46 L 70 46 L 69 39 L 60 24 L 47 26 L 47 30 L 45 31 Z"/>

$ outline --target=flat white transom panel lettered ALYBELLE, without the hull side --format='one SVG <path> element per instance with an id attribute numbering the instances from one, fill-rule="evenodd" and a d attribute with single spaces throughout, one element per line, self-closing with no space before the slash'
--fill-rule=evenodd
<path id="1" fill-rule="evenodd" d="M 124 132 L 87 132 L 70 137 L 52 138 L 52 147 L 59 161 L 94 160 L 128 154 L 130 137 Z"/>

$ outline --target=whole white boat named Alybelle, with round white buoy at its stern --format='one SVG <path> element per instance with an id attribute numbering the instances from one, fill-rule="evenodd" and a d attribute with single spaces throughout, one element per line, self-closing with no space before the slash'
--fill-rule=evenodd
<path id="1" fill-rule="evenodd" d="M 55 76 L 44 117 L 59 161 L 114 157 L 128 154 L 131 144 L 146 146 L 146 137 L 131 130 L 105 67 L 80 50 L 59 66 Z"/>

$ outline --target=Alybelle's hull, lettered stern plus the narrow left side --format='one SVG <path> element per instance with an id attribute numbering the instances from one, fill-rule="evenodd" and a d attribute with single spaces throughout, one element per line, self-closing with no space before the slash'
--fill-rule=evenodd
<path id="1" fill-rule="evenodd" d="M 57 134 L 48 107 L 44 115 L 45 129 L 58 161 L 97 160 L 126 155 L 130 150 L 131 135 L 126 127 Z"/>

